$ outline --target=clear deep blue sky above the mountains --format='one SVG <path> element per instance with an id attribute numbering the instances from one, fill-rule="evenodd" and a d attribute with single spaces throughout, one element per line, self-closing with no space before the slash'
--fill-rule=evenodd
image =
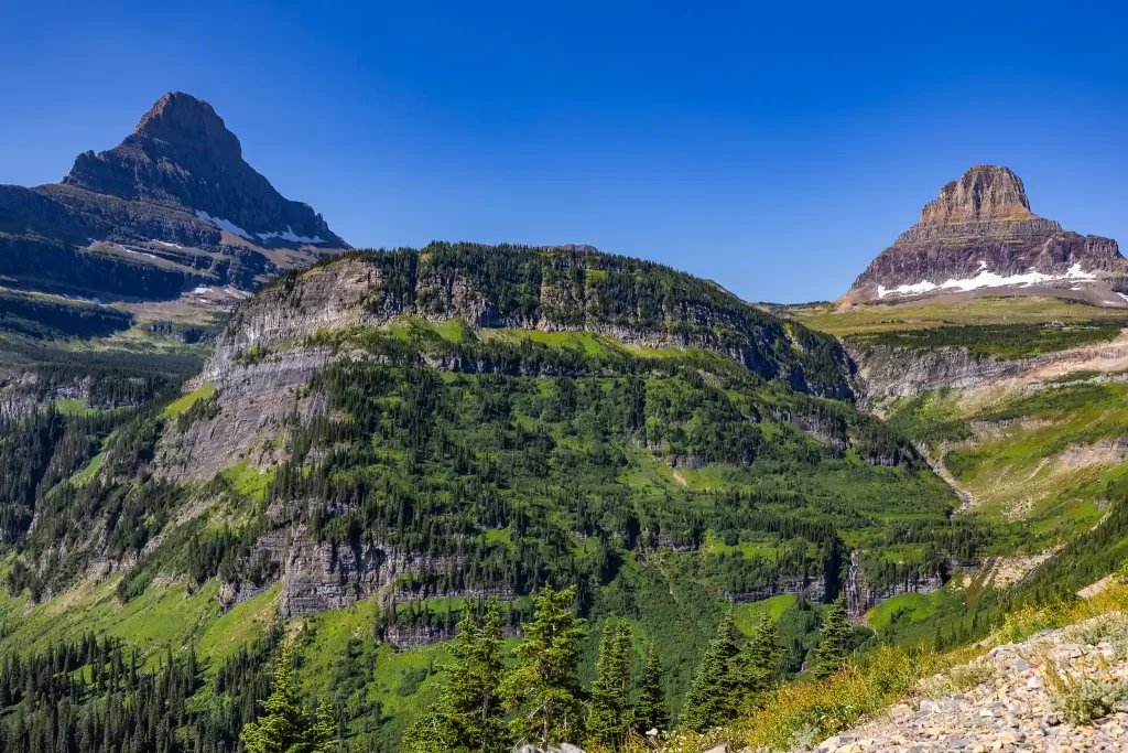
<path id="1" fill-rule="evenodd" d="M 356 246 L 590 243 L 826 299 L 978 163 L 1128 245 L 1126 3 L 89 5 L 5 2 L 0 183 L 183 90 Z"/>

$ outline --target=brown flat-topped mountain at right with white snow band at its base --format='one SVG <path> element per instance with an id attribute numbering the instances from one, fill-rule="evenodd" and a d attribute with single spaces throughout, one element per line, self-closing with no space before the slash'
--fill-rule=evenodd
<path id="1" fill-rule="evenodd" d="M 881 252 L 845 303 L 938 295 L 1050 292 L 1102 306 L 1128 305 L 1117 243 L 1063 230 L 1034 214 L 1022 180 L 978 165 L 940 191 L 920 221 Z"/>

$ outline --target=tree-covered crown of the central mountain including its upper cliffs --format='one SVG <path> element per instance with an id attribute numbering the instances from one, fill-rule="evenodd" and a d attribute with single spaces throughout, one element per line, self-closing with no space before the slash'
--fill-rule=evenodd
<path id="1" fill-rule="evenodd" d="M 324 290 L 331 281 L 340 287 L 332 296 Z M 852 367 L 834 338 L 784 323 L 714 282 L 585 247 L 434 243 L 350 253 L 277 278 L 236 313 L 231 331 L 256 310 L 292 316 L 319 297 L 377 324 L 400 315 L 460 317 L 475 327 L 587 330 L 638 344 L 707 348 L 797 389 L 851 395 Z"/>

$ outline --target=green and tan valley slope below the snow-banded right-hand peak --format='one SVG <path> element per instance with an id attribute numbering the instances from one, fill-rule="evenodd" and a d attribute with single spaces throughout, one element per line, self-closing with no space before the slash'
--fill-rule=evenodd
<path id="1" fill-rule="evenodd" d="M 867 406 L 989 528 L 977 567 L 870 615 L 884 637 L 963 641 L 1024 602 L 1074 598 L 1128 554 L 1125 322 L 1046 297 L 802 307 L 843 338 Z"/>

